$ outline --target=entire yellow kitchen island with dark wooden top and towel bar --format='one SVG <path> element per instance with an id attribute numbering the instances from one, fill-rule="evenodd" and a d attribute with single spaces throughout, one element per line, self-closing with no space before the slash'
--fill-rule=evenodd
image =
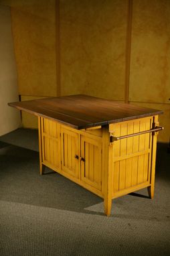
<path id="1" fill-rule="evenodd" d="M 48 166 L 104 198 L 107 216 L 118 196 L 153 198 L 162 111 L 84 94 L 9 105 L 38 118 L 40 174 Z"/>

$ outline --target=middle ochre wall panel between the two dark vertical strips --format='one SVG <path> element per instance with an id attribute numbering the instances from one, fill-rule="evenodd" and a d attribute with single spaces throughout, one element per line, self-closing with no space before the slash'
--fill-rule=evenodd
<path id="1" fill-rule="evenodd" d="M 127 11 L 127 0 L 60 0 L 63 95 L 124 100 Z"/>

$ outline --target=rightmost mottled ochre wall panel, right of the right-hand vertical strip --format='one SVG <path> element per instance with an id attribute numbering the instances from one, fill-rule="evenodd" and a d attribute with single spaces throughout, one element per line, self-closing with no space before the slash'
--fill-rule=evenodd
<path id="1" fill-rule="evenodd" d="M 170 1 L 133 1 L 129 101 L 170 103 Z"/>

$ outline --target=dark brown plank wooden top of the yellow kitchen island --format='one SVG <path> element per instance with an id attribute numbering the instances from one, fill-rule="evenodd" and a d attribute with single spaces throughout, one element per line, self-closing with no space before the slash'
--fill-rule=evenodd
<path id="1" fill-rule="evenodd" d="M 9 103 L 9 106 L 37 116 L 47 117 L 74 129 L 86 129 L 141 117 L 163 114 L 163 111 L 118 103 L 84 94 Z"/>

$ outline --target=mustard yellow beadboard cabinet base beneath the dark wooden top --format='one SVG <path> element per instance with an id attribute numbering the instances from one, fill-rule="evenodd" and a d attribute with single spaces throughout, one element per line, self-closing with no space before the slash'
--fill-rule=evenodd
<path id="1" fill-rule="evenodd" d="M 157 123 L 157 116 L 76 130 L 38 117 L 40 173 L 48 166 L 104 198 L 107 216 L 112 199 L 118 196 L 148 188 L 153 198 L 157 133 L 110 142 L 110 135 L 146 131 L 153 123 Z"/>

